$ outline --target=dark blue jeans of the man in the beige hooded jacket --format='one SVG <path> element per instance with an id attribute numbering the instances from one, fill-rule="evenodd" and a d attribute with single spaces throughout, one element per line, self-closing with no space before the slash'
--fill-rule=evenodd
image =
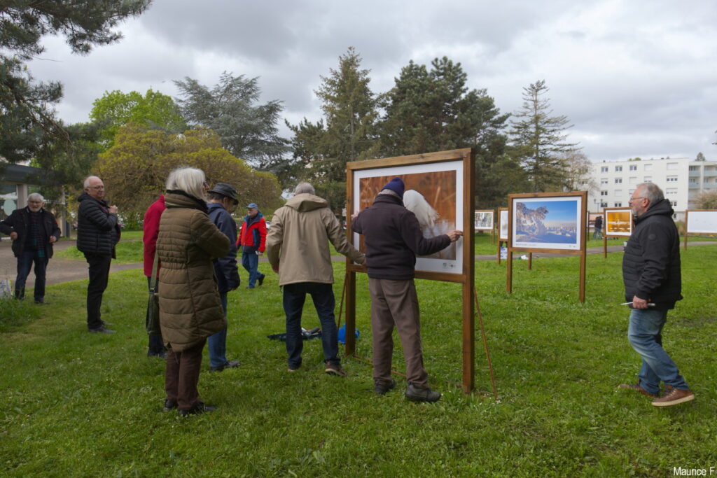
<path id="1" fill-rule="evenodd" d="M 303 335 L 301 335 L 301 312 L 304 308 L 306 295 L 310 294 L 313 300 L 318 320 L 321 324 L 321 345 L 323 346 L 324 362 L 341 363 L 338 359 L 338 337 L 336 335 L 336 321 L 333 307 L 336 301 L 333 298 L 331 284 L 318 282 L 298 282 L 284 286 L 284 312 L 286 313 L 286 352 L 289 354 L 290 368 L 301 365 L 301 351 L 304 348 Z"/>

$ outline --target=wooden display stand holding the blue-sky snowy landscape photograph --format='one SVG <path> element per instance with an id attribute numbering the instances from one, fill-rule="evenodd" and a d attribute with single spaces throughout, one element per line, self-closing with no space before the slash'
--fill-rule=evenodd
<path id="1" fill-rule="evenodd" d="M 579 300 L 585 302 L 587 191 L 508 195 L 506 290 L 513 293 L 513 252 L 580 256 Z"/>

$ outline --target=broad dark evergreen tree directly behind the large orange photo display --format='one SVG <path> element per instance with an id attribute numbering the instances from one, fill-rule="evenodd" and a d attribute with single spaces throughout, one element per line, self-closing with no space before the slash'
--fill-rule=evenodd
<path id="1" fill-rule="evenodd" d="M 505 195 L 522 188 L 519 167 L 505 156 L 501 115 L 485 89 L 469 90 L 460 63 L 436 58 L 402 68 L 394 87 L 382 97 L 381 153 L 404 156 L 455 148 L 474 148 L 476 204 L 502 206 Z M 507 171 L 514 174 L 506 175 Z"/>

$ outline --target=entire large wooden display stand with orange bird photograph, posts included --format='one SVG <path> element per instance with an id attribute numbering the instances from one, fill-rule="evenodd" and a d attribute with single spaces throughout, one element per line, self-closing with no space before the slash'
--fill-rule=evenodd
<path id="1" fill-rule="evenodd" d="M 475 157 L 471 148 L 346 163 L 347 216 L 371 206 L 381 188 L 399 176 L 406 185 L 407 209 L 421 208 L 414 214 L 422 228 L 429 228 L 432 236 L 453 229 L 463 231 L 462 238 L 451 247 L 431 257 L 417 257 L 415 277 L 462 285 L 462 386 L 465 393 L 473 391 L 475 376 L 473 171 Z M 435 218 L 441 224 L 434 223 Z M 351 221 L 346 221 L 346 233 L 356 249 L 365 250 L 363 237 L 351 230 Z M 356 272 L 365 273 L 366 267 L 346 259 L 346 330 L 356 328 Z M 356 357 L 353 333 L 346 333 L 346 355 Z"/>

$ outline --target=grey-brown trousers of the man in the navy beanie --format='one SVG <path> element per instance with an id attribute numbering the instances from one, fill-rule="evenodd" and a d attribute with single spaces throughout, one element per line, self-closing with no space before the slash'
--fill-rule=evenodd
<path id="1" fill-rule="evenodd" d="M 413 279 L 371 279 L 371 332 L 374 338 L 374 380 L 391 380 L 391 357 L 394 352 L 394 325 L 406 360 L 409 383 L 428 386 L 428 373 L 423 366 L 421 325 L 418 296 Z"/>

